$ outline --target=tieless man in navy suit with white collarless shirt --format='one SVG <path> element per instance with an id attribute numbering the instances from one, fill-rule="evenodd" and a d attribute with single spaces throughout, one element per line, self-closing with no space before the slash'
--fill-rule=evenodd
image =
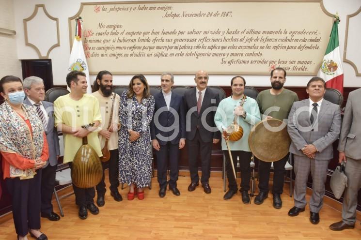
<path id="1" fill-rule="evenodd" d="M 163 73 L 160 78 L 162 91 L 154 96 L 155 114 L 150 129 L 153 148 L 157 150 L 159 197 L 165 196 L 168 184 L 173 194 L 179 196 L 178 161 L 179 150 L 186 144 L 186 112 L 183 97 L 172 92 L 173 74 Z M 168 159 L 169 181 L 167 181 Z"/>

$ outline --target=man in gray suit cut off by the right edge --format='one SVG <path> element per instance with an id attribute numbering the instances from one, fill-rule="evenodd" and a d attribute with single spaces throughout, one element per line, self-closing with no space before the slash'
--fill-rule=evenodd
<path id="1" fill-rule="evenodd" d="M 330 229 L 341 231 L 354 228 L 356 222 L 357 193 L 361 188 L 361 89 L 348 94 L 338 144 L 341 163 L 345 161 L 348 184 L 342 204 L 342 221 L 331 224 Z"/>

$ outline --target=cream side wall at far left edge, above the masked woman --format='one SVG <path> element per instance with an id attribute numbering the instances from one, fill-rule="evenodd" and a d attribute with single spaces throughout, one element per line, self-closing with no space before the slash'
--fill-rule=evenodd
<path id="1" fill-rule="evenodd" d="M 0 28 L 15 30 L 13 0 L 0 0 Z M 16 36 L 0 33 L 0 78 L 16 75 L 22 78 L 21 63 L 17 58 Z"/>

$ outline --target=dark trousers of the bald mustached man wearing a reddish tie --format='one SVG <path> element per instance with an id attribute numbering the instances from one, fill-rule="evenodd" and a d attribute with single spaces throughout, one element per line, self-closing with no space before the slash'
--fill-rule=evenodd
<path id="1" fill-rule="evenodd" d="M 208 183 L 209 177 L 211 176 L 212 141 L 208 143 L 203 142 L 197 129 L 193 140 L 187 140 L 187 144 L 190 180 L 192 182 L 199 181 L 197 158 L 198 152 L 200 152 L 202 161 L 201 182 L 202 184 Z"/>

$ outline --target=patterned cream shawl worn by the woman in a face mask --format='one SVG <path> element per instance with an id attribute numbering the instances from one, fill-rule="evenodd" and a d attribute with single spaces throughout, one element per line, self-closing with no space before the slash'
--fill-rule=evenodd
<path id="1" fill-rule="evenodd" d="M 25 119 L 29 119 L 32 129 L 26 122 L 4 102 L 0 105 L 0 151 L 17 153 L 27 159 L 37 159 L 41 156 L 44 146 L 44 129 L 38 114 L 32 106 L 21 105 Z M 10 177 L 20 177 L 20 180 L 34 177 L 32 169 L 18 169 L 10 165 Z"/>

